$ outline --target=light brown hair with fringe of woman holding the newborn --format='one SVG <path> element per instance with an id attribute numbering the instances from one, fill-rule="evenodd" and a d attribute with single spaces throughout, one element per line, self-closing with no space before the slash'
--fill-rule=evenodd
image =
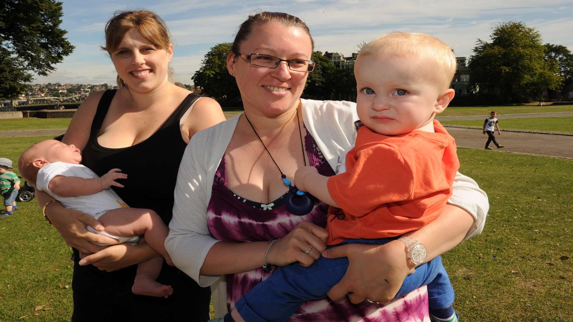
<path id="1" fill-rule="evenodd" d="M 105 24 L 105 46 L 101 46 L 101 49 L 111 56 L 121 44 L 125 34 L 134 28 L 158 48 L 169 49 L 171 34 L 165 21 L 149 10 L 115 11 L 113 17 Z M 171 68 L 168 70 L 168 76 L 171 80 L 173 76 Z M 124 86 L 125 82 L 117 75 L 117 87 Z"/>

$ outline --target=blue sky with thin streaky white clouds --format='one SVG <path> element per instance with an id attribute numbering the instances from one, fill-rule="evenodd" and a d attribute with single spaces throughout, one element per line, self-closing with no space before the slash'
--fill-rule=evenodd
<path id="1" fill-rule="evenodd" d="M 544 43 L 573 52 L 573 1 L 393 1 L 383 0 L 64 0 L 60 28 L 76 46 L 57 70 L 34 83 L 115 84 L 116 73 L 104 43 L 104 25 L 115 10 L 150 9 L 166 22 L 175 46 L 171 66 L 175 79 L 192 84 L 203 55 L 215 44 L 233 41 L 249 14 L 283 11 L 303 19 L 311 29 L 315 50 L 350 56 L 355 45 L 395 30 L 431 34 L 446 42 L 456 56 L 469 56 L 477 40 L 489 40 L 499 22 L 522 21 L 541 33 Z"/>

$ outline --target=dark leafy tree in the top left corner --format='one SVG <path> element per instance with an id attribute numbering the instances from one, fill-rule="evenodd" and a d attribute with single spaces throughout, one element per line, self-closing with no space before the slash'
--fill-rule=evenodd
<path id="1" fill-rule="evenodd" d="M 55 0 L 0 1 L 0 97 L 14 99 L 32 74 L 47 76 L 74 46 L 59 28 L 62 3 Z"/>

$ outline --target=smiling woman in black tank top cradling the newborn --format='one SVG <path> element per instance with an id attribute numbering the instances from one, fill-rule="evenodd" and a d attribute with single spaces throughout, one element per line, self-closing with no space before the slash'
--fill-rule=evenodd
<path id="1" fill-rule="evenodd" d="M 168 225 L 187 142 L 195 132 L 224 120 L 221 107 L 168 82 L 172 45 L 164 22 L 150 11 L 116 13 L 106 26 L 106 42 L 120 89 L 88 97 L 74 115 L 64 142 L 83 150 L 83 164 L 97 175 L 111 168 L 128 174 L 128 179 L 121 180 L 124 187 L 114 191 L 130 207 L 155 210 Z M 38 202 L 43 206 L 50 198 L 40 193 Z M 131 292 L 135 264 L 157 255 L 146 244 L 96 246 L 92 243 L 109 242 L 85 230 L 85 225 L 99 225 L 96 219 L 58 203 L 50 203 L 46 215 L 73 246 L 72 321 L 209 319 L 210 290 L 165 262 L 157 281 L 172 286 L 171 296 Z M 84 258 L 88 265 L 80 265 L 80 257 L 89 253 L 94 254 Z"/>

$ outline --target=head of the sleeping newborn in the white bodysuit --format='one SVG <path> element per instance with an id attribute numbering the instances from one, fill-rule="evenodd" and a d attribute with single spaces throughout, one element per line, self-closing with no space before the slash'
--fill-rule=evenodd
<path id="1" fill-rule="evenodd" d="M 38 170 L 53 162 L 80 164 L 81 152 L 73 144 L 57 140 L 45 140 L 33 144 L 20 155 L 18 171 L 26 181 L 36 184 Z"/>

